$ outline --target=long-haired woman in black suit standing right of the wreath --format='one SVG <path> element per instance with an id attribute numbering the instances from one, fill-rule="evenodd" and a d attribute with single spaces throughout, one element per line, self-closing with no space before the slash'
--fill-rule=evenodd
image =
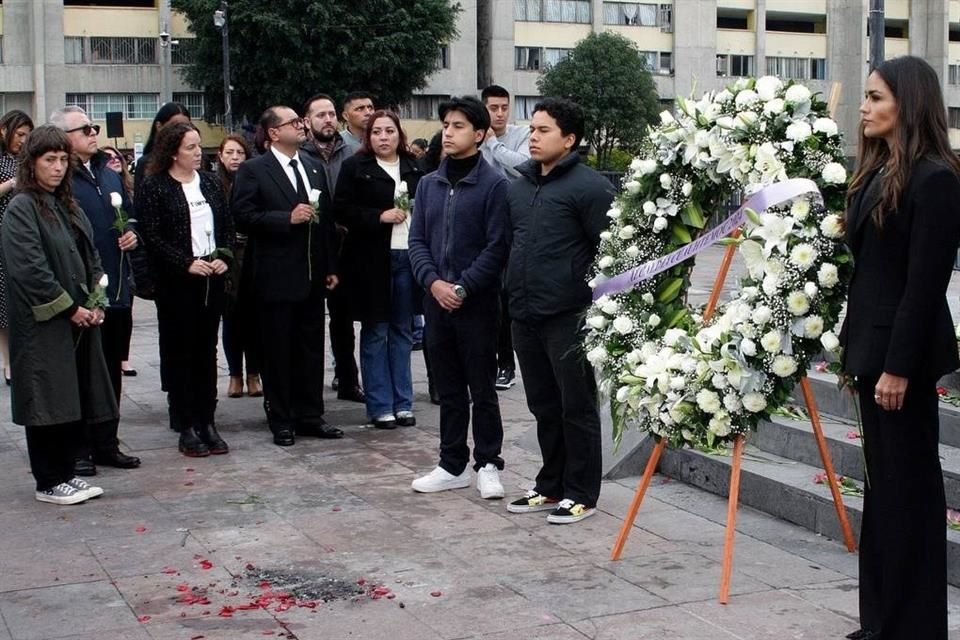
<path id="1" fill-rule="evenodd" d="M 843 364 L 856 377 L 867 486 L 860 625 L 848 638 L 946 640 L 937 380 L 960 366 L 946 290 L 960 243 L 960 161 L 940 81 L 920 58 L 881 64 L 860 108 L 847 196 L 855 258 Z"/>

